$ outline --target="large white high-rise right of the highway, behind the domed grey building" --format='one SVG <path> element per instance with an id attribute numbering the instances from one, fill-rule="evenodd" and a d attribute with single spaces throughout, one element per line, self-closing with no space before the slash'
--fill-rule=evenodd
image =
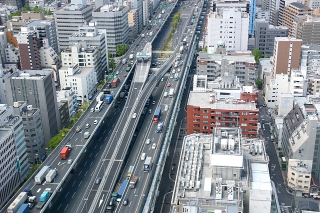
<path id="1" fill-rule="evenodd" d="M 248 28 L 249 14 L 241 8 L 217 8 L 208 15 L 208 52 L 214 53 L 220 40 L 227 50 L 247 50 Z"/>

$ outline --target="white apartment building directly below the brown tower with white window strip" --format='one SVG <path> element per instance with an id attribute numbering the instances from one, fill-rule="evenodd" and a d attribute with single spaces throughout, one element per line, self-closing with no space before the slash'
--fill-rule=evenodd
<path id="1" fill-rule="evenodd" d="M 281 93 L 289 93 L 289 76 L 275 75 L 275 79 L 270 79 L 269 83 L 265 85 L 264 102 L 269 108 L 276 108 L 278 106 L 279 95 Z"/>

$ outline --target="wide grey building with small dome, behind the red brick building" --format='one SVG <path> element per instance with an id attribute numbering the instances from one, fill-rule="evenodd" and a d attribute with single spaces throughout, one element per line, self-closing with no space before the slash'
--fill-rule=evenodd
<path id="1" fill-rule="evenodd" d="M 219 47 L 224 46 L 224 42 L 218 43 Z M 208 80 L 215 80 L 217 77 L 225 79 L 222 88 L 232 85 L 233 76 L 239 79 L 241 84 L 253 85 L 255 73 L 255 61 L 252 55 L 223 55 L 208 54 L 200 52 L 196 59 L 196 71 L 199 75 L 207 75 Z M 227 74 L 226 74 L 227 73 Z"/>

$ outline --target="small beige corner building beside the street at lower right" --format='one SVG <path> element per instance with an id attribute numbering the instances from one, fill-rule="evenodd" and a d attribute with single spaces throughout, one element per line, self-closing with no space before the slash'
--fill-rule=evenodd
<path id="1" fill-rule="evenodd" d="M 296 196 L 309 193 L 311 172 L 306 164 L 298 159 L 289 159 L 287 175 L 290 193 Z"/>

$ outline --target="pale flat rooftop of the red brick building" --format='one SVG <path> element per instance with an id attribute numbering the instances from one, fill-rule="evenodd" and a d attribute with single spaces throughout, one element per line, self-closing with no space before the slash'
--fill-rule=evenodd
<path id="1" fill-rule="evenodd" d="M 211 103 L 210 103 L 211 102 Z M 199 106 L 201 108 L 228 109 L 228 110 L 250 110 L 258 112 L 254 103 L 247 103 L 242 100 L 215 100 L 211 92 L 190 92 L 187 105 Z"/>

